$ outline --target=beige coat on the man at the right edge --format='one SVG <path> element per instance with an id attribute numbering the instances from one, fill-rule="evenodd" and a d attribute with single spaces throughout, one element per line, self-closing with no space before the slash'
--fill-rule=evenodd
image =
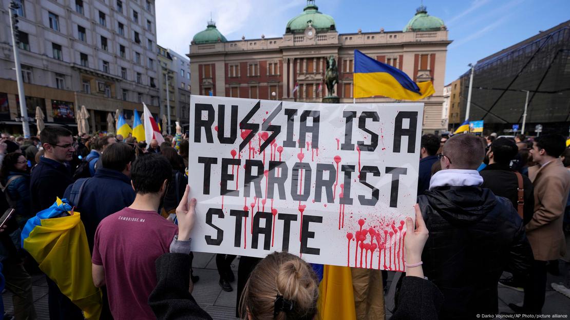
<path id="1" fill-rule="evenodd" d="M 566 252 L 562 221 L 570 192 L 570 172 L 560 159 L 554 159 L 543 167 L 528 168 L 528 178 L 534 184 L 535 210 L 526 232 L 534 258 L 559 259 Z"/>

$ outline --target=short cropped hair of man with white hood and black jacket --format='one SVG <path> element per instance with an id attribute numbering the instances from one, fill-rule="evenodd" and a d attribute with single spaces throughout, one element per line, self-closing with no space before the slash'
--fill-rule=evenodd
<path id="1" fill-rule="evenodd" d="M 485 148 L 474 134 L 455 134 L 443 145 L 443 154 L 458 169 L 477 170 L 485 157 Z"/>

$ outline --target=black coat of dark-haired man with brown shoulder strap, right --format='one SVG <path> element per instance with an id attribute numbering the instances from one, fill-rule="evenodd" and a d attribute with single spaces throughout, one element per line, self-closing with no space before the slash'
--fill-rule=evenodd
<path id="1" fill-rule="evenodd" d="M 517 210 L 519 180 L 516 179 L 513 170 L 509 169 L 508 166 L 493 163 L 486 166 L 479 174 L 483 177 L 482 188 L 490 188 L 495 195 L 504 196 L 511 200 L 512 206 Z M 522 177 L 524 188 L 523 221 L 524 224 L 527 224 L 534 214 L 534 186 L 526 175 L 522 175 Z"/>

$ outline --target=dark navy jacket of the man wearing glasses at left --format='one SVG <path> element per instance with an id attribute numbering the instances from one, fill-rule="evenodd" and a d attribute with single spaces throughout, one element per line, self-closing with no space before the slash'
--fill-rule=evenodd
<path id="1" fill-rule="evenodd" d="M 49 208 L 55 198 L 63 197 L 67 186 L 73 183 L 68 166 L 46 157 L 39 159 L 30 180 L 30 199 L 32 215 Z"/>

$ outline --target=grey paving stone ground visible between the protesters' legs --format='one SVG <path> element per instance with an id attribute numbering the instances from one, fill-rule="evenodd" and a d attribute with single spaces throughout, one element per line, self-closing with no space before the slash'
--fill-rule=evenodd
<path id="1" fill-rule="evenodd" d="M 238 258 L 239 259 L 239 258 Z M 231 269 L 234 270 L 237 278 L 238 259 L 234 260 Z M 235 301 L 236 282 L 231 285 L 233 292 L 225 292 L 218 285 L 218 272 L 215 267 L 215 255 L 213 253 L 194 253 L 194 274 L 200 276 L 200 281 L 194 285 L 194 298 L 200 306 L 206 310 L 215 320 L 235 320 Z M 550 284 L 564 283 L 565 275 L 569 272 L 570 264 L 560 262 L 560 276 L 552 276 L 548 274 L 546 302 L 543 308 L 543 314 L 552 315 L 561 314 L 570 317 L 570 298 L 552 290 Z M 388 286 L 391 284 L 393 272 L 389 272 Z M 34 276 L 34 306 L 38 313 L 38 319 L 49 319 L 47 309 L 47 284 L 44 276 Z M 515 290 L 498 287 L 499 290 L 499 313 L 512 312 L 507 306 L 508 303 L 515 302 L 522 304 L 524 294 Z M 9 291 L 3 293 L 5 310 L 8 313 L 13 311 L 12 294 Z M 390 317 L 389 311 L 386 311 L 386 318 Z"/>

